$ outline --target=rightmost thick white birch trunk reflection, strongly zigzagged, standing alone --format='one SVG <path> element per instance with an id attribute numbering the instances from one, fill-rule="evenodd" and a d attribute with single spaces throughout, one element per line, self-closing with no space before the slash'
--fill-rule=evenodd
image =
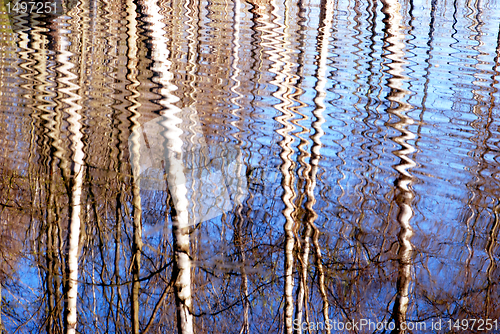
<path id="1" fill-rule="evenodd" d="M 415 166 L 415 162 L 408 155 L 415 152 L 415 148 L 407 141 L 415 138 L 407 127 L 413 124 L 413 119 L 406 115 L 411 106 L 406 102 L 408 91 L 404 89 L 403 84 L 407 77 L 404 76 L 404 38 L 403 17 L 401 14 L 401 4 L 398 0 L 383 0 L 382 12 L 385 14 L 385 40 L 387 42 L 387 58 L 390 62 L 387 64 L 387 71 L 391 77 L 388 79 L 388 86 L 391 89 L 387 99 L 391 102 L 388 112 L 399 118 L 399 121 L 392 125 L 395 130 L 401 133 L 394 138 L 394 141 L 402 146 L 394 154 L 400 158 L 400 163 L 394 166 L 399 176 L 396 180 L 397 195 L 396 204 L 398 205 L 397 221 L 400 227 L 399 241 L 399 273 L 397 279 L 397 294 L 393 307 L 393 318 L 395 321 L 396 332 L 401 324 L 406 320 L 406 311 L 409 303 L 409 287 L 411 282 L 411 257 L 412 244 L 410 242 L 413 229 L 410 225 L 410 219 L 413 216 L 411 201 L 413 193 L 409 186 L 412 176 L 408 169 Z"/>

